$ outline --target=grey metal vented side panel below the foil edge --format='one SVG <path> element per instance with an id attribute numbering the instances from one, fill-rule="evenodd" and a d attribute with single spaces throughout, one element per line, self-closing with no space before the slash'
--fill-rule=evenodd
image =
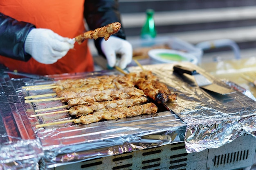
<path id="1" fill-rule="evenodd" d="M 54 170 L 220 170 L 252 165 L 256 139 L 242 135 L 220 148 L 187 153 L 184 142 L 102 157 Z"/>

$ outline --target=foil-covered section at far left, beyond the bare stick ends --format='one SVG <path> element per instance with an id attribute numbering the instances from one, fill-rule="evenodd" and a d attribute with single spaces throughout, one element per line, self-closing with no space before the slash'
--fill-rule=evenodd
<path id="1" fill-rule="evenodd" d="M 36 170 L 43 150 L 20 101 L 21 81 L 0 74 L 0 170 Z M 18 83 L 18 84 L 17 84 Z M 31 110 L 31 109 L 30 109 Z"/>

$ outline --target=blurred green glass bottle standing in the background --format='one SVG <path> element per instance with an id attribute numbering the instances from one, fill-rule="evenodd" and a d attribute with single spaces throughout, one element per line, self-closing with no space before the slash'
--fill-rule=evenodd
<path id="1" fill-rule="evenodd" d="M 146 22 L 141 29 L 141 39 L 153 39 L 157 35 L 155 30 L 155 22 L 154 22 L 154 13 L 153 9 L 146 10 Z"/>

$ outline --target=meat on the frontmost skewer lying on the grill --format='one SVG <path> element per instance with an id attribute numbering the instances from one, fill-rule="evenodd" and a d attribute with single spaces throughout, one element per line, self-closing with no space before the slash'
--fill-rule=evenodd
<path id="1" fill-rule="evenodd" d="M 82 115 L 80 118 L 75 119 L 75 123 L 90 124 L 99 122 L 100 120 L 115 120 L 123 119 L 126 117 L 139 116 L 142 114 L 155 114 L 157 106 L 154 103 L 147 103 L 144 105 L 135 105 L 132 107 L 119 107 L 116 109 L 108 109 L 93 114 Z"/>

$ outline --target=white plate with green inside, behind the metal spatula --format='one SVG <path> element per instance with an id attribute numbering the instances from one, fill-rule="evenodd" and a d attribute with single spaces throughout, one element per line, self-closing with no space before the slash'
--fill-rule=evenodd
<path id="1" fill-rule="evenodd" d="M 162 63 L 176 63 L 186 61 L 195 65 L 198 64 L 198 59 L 194 55 L 177 50 L 152 49 L 148 51 L 148 56 L 153 60 Z"/>

